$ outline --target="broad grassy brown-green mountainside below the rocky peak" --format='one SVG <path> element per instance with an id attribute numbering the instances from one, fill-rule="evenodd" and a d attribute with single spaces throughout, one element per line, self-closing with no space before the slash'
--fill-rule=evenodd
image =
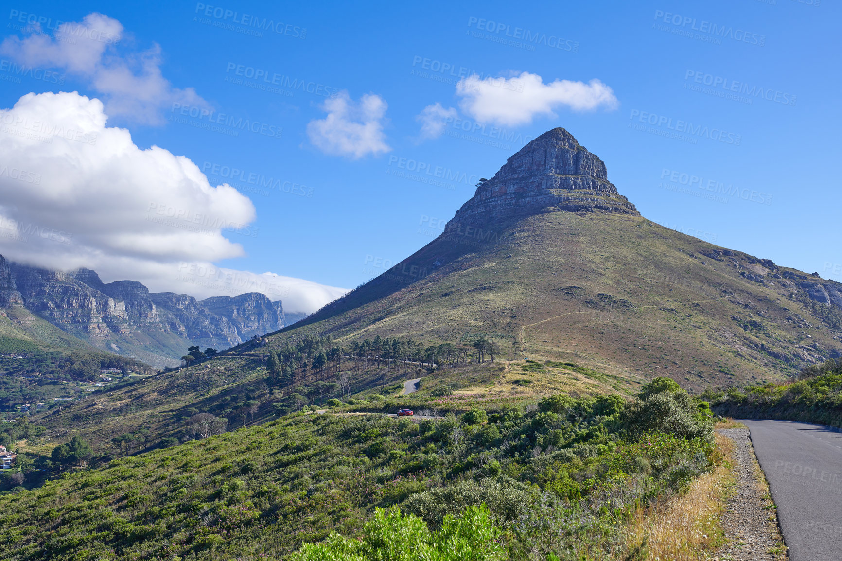
<path id="1" fill-rule="evenodd" d="M 302 334 L 339 342 L 482 336 L 509 359 L 573 361 L 622 377 L 668 375 L 696 389 L 791 376 L 839 350 L 842 314 L 772 276 L 807 275 L 640 216 L 556 211 L 494 233 L 481 242 L 445 232 L 281 330 L 271 347 Z"/>

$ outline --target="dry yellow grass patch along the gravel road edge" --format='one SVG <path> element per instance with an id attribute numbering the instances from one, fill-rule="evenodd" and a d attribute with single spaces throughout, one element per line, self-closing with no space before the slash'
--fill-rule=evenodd
<path id="1" fill-rule="evenodd" d="M 724 457 L 730 457 L 733 442 L 716 435 Z M 719 515 L 725 508 L 727 489 L 733 484 L 728 462 L 690 484 L 690 489 L 665 504 L 637 510 L 629 525 L 627 543 L 633 552 L 628 559 L 690 561 L 709 558 L 722 545 L 724 533 Z"/>

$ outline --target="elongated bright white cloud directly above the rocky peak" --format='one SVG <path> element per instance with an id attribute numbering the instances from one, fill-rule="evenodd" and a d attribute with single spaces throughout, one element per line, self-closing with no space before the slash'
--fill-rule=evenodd
<path id="1" fill-rule="evenodd" d="M 543 83 L 537 74 L 480 79 L 476 74 L 456 84 L 460 107 L 479 122 L 503 126 L 530 123 L 536 115 L 554 116 L 553 110 L 566 105 L 574 111 L 615 109 L 613 90 L 597 79 L 589 83 L 556 80 Z"/>

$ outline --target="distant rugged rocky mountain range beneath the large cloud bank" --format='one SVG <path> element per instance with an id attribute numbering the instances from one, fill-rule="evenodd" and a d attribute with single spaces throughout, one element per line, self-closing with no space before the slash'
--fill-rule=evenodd
<path id="1" fill-rule="evenodd" d="M 135 280 L 106 284 L 93 270 L 46 270 L 9 263 L 0 255 L 0 316 L 6 320 L 0 322 L 0 338 L 59 350 L 85 346 L 72 342 L 80 339 L 161 367 L 178 364 L 190 345 L 225 349 L 306 314 L 285 313 L 280 301 L 259 292 L 197 301 L 186 294 L 150 292 Z"/>

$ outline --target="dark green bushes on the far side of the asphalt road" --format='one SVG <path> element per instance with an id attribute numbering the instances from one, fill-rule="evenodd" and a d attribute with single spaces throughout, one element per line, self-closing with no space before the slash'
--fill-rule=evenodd
<path id="1" fill-rule="evenodd" d="M 807 366 L 791 382 L 708 390 L 704 395 L 720 414 L 842 427 L 842 359 Z"/>

